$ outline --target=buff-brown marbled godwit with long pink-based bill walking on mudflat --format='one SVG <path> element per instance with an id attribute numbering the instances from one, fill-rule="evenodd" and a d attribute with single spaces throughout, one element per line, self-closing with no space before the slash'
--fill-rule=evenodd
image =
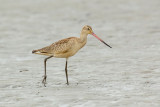
<path id="1" fill-rule="evenodd" d="M 68 73 L 67 73 L 67 60 L 69 57 L 75 55 L 78 52 L 78 50 L 81 49 L 86 44 L 88 34 L 93 35 L 98 40 L 103 42 L 105 45 L 112 48 L 107 43 L 105 43 L 102 39 L 100 39 L 95 33 L 93 33 L 92 28 L 90 26 L 86 25 L 83 27 L 83 29 L 81 31 L 80 38 L 70 37 L 70 38 L 62 39 L 58 42 L 51 44 L 50 46 L 32 51 L 32 53 L 34 53 L 34 54 L 49 56 L 44 59 L 44 78 L 42 80 L 42 83 L 44 84 L 44 86 L 46 84 L 46 78 L 47 78 L 46 62 L 49 58 L 52 58 L 52 57 L 66 58 L 65 73 L 66 73 L 67 85 L 69 85 Z"/>

